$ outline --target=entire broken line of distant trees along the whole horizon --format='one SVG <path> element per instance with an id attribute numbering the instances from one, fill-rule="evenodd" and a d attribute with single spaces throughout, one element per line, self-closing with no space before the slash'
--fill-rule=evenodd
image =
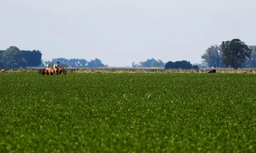
<path id="1" fill-rule="evenodd" d="M 60 62 L 61 67 L 108 67 L 99 60 L 87 61 L 84 59 L 54 58 L 51 61 L 41 60 L 42 54 L 39 50 L 19 50 L 15 46 L 7 50 L 0 50 L 0 68 L 19 68 L 19 67 L 45 67 L 48 62 L 51 66 L 55 62 Z M 239 39 L 223 41 L 222 44 L 211 46 L 206 49 L 201 56 L 203 63 L 191 64 L 189 61 L 168 61 L 147 59 L 139 64 L 132 63 L 132 67 L 158 67 L 166 69 L 198 69 L 198 68 L 256 68 L 256 46 L 247 46 Z"/>

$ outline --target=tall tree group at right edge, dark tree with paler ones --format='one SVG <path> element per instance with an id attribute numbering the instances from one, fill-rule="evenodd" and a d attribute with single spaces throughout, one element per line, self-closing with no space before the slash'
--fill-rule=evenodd
<path id="1" fill-rule="evenodd" d="M 256 46 L 247 46 L 239 39 L 223 41 L 207 48 L 201 58 L 208 67 L 256 68 Z"/>

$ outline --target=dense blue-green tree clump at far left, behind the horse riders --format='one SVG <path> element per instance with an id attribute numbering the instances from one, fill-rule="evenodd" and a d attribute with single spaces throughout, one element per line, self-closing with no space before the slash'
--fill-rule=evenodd
<path id="1" fill-rule="evenodd" d="M 40 51 L 19 50 L 15 46 L 0 51 L 0 66 L 2 68 L 36 67 L 41 64 Z"/>

